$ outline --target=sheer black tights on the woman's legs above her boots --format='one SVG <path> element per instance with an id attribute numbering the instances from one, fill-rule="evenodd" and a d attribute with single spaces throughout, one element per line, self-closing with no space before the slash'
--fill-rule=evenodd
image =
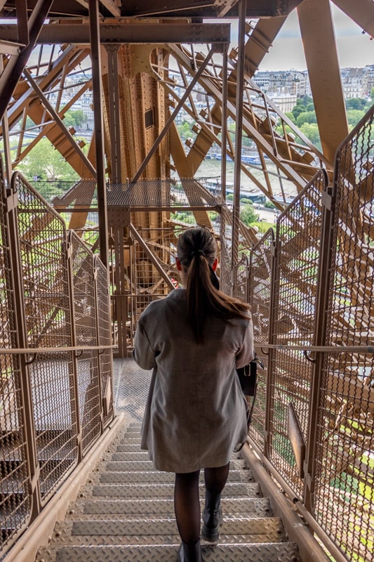
<path id="1" fill-rule="evenodd" d="M 204 469 L 206 489 L 219 494 L 229 476 L 229 463 L 216 469 Z M 178 531 L 183 542 L 196 542 L 200 537 L 200 471 L 175 474 L 174 509 Z"/>

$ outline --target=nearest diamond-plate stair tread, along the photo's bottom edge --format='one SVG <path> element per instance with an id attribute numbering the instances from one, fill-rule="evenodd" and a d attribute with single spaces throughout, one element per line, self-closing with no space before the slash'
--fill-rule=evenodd
<path id="1" fill-rule="evenodd" d="M 63 547 L 56 562 L 175 562 L 179 544 L 144 547 Z M 294 543 L 218 544 L 202 547 L 204 562 L 301 562 Z M 39 558 L 39 561 L 41 559 Z"/>

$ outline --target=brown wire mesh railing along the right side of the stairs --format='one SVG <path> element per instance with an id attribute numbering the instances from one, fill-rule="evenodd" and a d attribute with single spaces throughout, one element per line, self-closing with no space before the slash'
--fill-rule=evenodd
<path id="1" fill-rule="evenodd" d="M 337 561 L 373 559 L 374 107 L 251 252 L 251 445 Z"/>

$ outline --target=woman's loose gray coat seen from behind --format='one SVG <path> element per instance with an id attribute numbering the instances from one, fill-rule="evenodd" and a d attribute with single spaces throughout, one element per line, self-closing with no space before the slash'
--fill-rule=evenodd
<path id="1" fill-rule="evenodd" d="M 224 466 L 247 437 L 236 367 L 253 358 L 251 319 L 208 318 L 203 337 L 195 343 L 185 289 L 150 303 L 138 322 L 134 358 L 153 369 L 141 447 L 161 471 Z"/>

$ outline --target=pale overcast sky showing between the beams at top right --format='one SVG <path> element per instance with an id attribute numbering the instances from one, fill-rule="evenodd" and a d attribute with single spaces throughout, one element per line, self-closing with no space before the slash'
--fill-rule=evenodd
<path id="1" fill-rule="evenodd" d="M 352 0 L 359 1 L 359 0 Z M 335 38 L 338 45 L 340 68 L 364 67 L 374 64 L 374 40 L 363 34 L 361 28 L 331 3 Z M 232 24 L 232 40 L 236 36 L 237 22 Z M 300 27 L 296 10 L 290 13 L 272 48 L 265 55 L 259 70 L 306 70 Z"/>

